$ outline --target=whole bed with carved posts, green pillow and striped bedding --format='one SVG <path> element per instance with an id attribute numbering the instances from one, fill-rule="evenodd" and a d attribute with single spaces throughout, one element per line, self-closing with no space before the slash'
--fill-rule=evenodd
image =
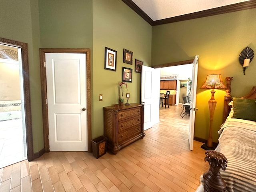
<path id="1" fill-rule="evenodd" d="M 206 151 L 210 168 L 196 192 L 256 192 L 256 87 L 231 101 L 230 82 L 219 144 Z"/>

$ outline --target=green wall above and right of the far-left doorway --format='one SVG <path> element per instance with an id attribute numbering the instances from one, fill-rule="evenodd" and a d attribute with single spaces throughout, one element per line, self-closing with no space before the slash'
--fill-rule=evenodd
<path id="1" fill-rule="evenodd" d="M 39 69 L 38 4 L 34 0 L 0 0 L 0 37 L 28 44 L 34 152 L 44 147 Z"/>

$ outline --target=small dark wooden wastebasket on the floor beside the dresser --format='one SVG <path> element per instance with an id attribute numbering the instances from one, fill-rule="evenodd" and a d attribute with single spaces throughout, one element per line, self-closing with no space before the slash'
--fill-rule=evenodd
<path id="1" fill-rule="evenodd" d="M 99 136 L 92 140 L 92 152 L 93 156 L 97 159 L 106 154 L 108 138 L 105 136 Z"/>

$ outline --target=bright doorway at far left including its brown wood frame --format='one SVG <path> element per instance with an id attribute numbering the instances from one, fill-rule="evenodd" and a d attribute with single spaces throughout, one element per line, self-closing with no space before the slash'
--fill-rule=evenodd
<path id="1" fill-rule="evenodd" d="M 33 160 L 27 55 L 27 44 L 0 38 L 0 168 Z"/>

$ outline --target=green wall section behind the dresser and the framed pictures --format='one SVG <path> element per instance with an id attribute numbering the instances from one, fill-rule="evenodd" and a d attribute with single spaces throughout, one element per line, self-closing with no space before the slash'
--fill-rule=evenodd
<path id="1" fill-rule="evenodd" d="M 141 74 L 134 72 L 135 58 L 151 65 L 150 26 L 121 0 L 93 0 L 93 116 L 92 138 L 103 134 L 103 109 L 118 103 L 122 66 L 132 68 L 128 84 L 130 103 L 140 102 Z M 117 51 L 116 71 L 104 70 L 105 47 Z M 133 52 L 133 64 L 123 63 L 123 49 Z M 103 94 L 103 101 L 99 101 Z M 126 102 L 126 99 L 124 100 Z"/>

